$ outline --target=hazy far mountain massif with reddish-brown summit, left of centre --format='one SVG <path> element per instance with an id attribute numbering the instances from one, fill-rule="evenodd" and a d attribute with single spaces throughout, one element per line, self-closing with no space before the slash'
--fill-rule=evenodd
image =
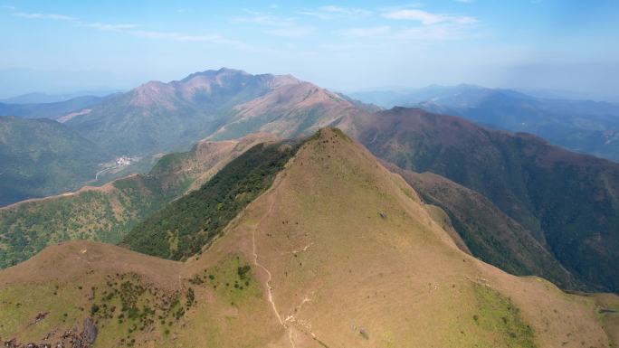
<path id="1" fill-rule="evenodd" d="M 66 124 L 113 153 L 143 155 L 191 146 L 206 136 L 307 135 L 357 111 L 338 94 L 291 76 L 221 69 L 148 82 Z"/>

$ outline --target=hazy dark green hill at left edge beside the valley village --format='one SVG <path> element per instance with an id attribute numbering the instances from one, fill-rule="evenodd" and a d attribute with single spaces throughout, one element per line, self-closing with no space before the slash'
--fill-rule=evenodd
<path id="1" fill-rule="evenodd" d="M 75 190 L 111 155 L 51 119 L 0 116 L 0 206 Z"/>

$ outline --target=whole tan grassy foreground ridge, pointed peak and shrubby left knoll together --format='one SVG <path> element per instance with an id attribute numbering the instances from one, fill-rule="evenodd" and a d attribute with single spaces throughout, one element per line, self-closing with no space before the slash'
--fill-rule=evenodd
<path id="1" fill-rule="evenodd" d="M 614 326 L 599 314 L 599 299 L 474 259 L 435 217 L 399 175 L 324 129 L 185 263 L 71 242 L 0 272 L 0 322 L 11 323 L 0 338 L 24 343 L 74 323 L 81 332 L 92 316 L 100 347 L 610 345 L 604 327 Z M 90 296 L 84 289 L 93 286 Z"/>

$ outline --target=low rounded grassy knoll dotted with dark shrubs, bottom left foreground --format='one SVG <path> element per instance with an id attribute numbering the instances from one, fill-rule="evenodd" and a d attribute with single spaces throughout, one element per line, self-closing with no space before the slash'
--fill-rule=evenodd
<path id="1" fill-rule="evenodd" d="M 51 246 L 0 272 L 0 341 L 263 347 L 276 339 L 278 326 L 270 324 L 261 284 L 251 273 L 239 275 L 247 265 L 231 254 L 192 274 L 182 263 L 98 242 Z M 200 284 L 189 280 L 196 277 Z M 234 287 L 239 282 L 242 289 Z M 186 334 L 191 345 L 179 343 Z"/>

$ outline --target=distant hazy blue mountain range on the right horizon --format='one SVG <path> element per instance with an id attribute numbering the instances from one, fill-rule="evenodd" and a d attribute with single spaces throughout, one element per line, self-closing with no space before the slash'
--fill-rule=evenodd
<path id="1" fill-rule="evenodd" d="M 485 127 L 532 133 L 575 152 L 619 161 L 619 105 L 614 103 L 538 98 L 512 89 L 467 84 L 351 96 L 387 108 L 424 108 Z"/>

